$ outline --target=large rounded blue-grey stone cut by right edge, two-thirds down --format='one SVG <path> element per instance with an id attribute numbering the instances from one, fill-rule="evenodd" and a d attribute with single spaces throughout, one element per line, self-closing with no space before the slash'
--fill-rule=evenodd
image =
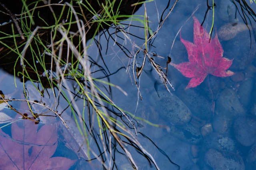
<path id="1" fill-rule="evenodd" d="M 238 142 L 244 146 L 251 146 L 256 142 L 256 117 L 243 116 L 234 121 L 234 134 Z"/>

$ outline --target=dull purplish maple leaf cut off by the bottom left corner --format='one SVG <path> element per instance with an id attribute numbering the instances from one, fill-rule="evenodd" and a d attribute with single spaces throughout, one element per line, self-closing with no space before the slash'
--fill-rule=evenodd
<path id="1" fill-rule="evenodd" d="M 38 129 L 33 121 L 12 123 L 12 137 L 0 129 L 0 169 L 44 170 L 69 169 L 75 162 L 64 157 L 52 157 L 58 142 L 56 126 Z"/>

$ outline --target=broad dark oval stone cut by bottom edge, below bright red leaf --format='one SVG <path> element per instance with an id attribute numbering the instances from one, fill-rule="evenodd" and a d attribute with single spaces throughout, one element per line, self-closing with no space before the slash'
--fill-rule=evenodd
<path id="1" fill-rule="evenodd" d="M 213 170 L 244 170 L 244 161 L 241 156 L 228 151 L 209 149 L 204 160 Z"/>

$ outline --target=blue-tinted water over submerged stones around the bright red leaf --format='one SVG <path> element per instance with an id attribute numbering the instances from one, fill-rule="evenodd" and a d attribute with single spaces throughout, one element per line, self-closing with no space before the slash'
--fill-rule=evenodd
<path id="1" fill-rule="evenodd" d="M 161 16 L 163 19 L 166 17 L 173 3 L 170 2 L 168 7 L 168 2 L 164 1 L 146 3 L 148 20 L 150 20 L 149 27 L 152 31 L 157 30 Z M 243 19 L 238 13 L 240 8 L 236 12 L 234 5 L 235 3 L 238 6 L 238 2 L 215 0 L 214 3 L 216 9 L 213 37 L 216 30 L 220 30 L 226 23 L 234 21 L 243 23 Z M 167 10 L 164 11 L 166 7 Z M 150 57 L 154 58 L 154 61 L 162 67 L 164 72 L 166 71 L 168 56 L 172 58 L 172 62 L 175 64 L 188 61 L 186 48 L 179 38 L 180 34 L 176 38 L 175 36 L 184 25 L 181 29 L 182 38 L 193 42 L 193 19 L 186 20 L 197 7 L 198 10 L 194 16 L 202 22 L 207 10 L 206 2 L 196 0 L 194 3 L 188 3 L 180 0 L 156 36 L 148 42 Z M 252 4 L 250 7 L 255 11 L 256 4 Z M 142 6 L 136 15 L 143 16 L 144 9 Z M 115 33 L 116 28 L 110 28 L 108 31 L 102 31 L 95 38 L 100 40 L 100 54 L 106 66 L 100 59 L 98 46 L 95 42 L 88 49 L 88 55 L 97 61 L 97 64 L 102 66 L 107 74 L 110 74 L 109 80 L 104 78 L 103 72 L 95 72 L 92 76 L 110 81 L 112 84 L 120 86 L 128 94 L 126 96 L 117 88 L 112 88 L 112 101 L 136 117 L 142 117 L 163 126 L 163 128 L 150 126 L 144 121 L 134 118 L 137 131 L 140 132 L 137 136 L 138 141 L 156 160 L 160 169 L 178 169 L 178 167 L 193 170 L 253 169 L 256 166 L 256 91 L 254 89 L 256 46 L 253 34 L 255 31 L 253 18 L 255 19 L 255 16 L 247 18 L 247 21 L 251 21 L 252 28 L 243 29 L 244 25 L 242 25 L 239 27 L 240 31 L 235 31 L 234 37 L 228 40 L 224 39 L 229 35 L 218 35 L 224 50 L 223 57 L 233 59 L 233 64 L 228 69 L 235 72 L 234 76 L 220 78 L 208 75 L 199 86 L 184 90 L 190 78 L 184 77 L 176 68 L 169 65 L 168 80 L 175 88 L 174 91 L 168 86 L 172 93 L 170 94 L 162 84 L 159 75 L 150 65 L 149 59 L 146 59 L 142 74 L 139 78 L 135 78 L 139 84 L 143 100 L 138 94 L 138 89 L 134 83 L 134 70 L 132 70 L 134 54 L 138 51 L 138 47 L 144 43 L 144 28 L 139 27 L 143 26 L 142 23 L 139 21 L 122 21 L 121 23 L 124 24 L 125 28 L 123 31 L 130 34 L 122 31 Z M 209 31 L 211 23 L 212 10 L 209 10 L 203 26 Z M 131 26 L 128 26 L 129 24 Z M 144 48 L 145 46 L 142 47 L 142 49 Z M 140 50 L 135 61 L 138 67 L 142 66 L 143 59 L 144 53 Z M 98 69 L 98 67 L 93 66 L 92 72 Z M 12 77 L 4 82 L 10 81 L 12 81 Z M 9 84 L 8 86 L 10 87 Z M 18 87 L 20 87 L 19 90 L 22 90 L 22 83 L 18 83 Z M 11 94 L 11 89 L 15 89 L 14 84 L 9 88 L 10 91 L 5 91 L 5 93 Z M 103 91 L 108 92 L 104 89 Z M 15 93 L 12 98 L 19 97 L 19 94 Z M 83 103 L 79 104 L 82 105 Z M 7 111 L 10 110 L 6 109 Z M 11 117 L 15 117 L 15 115 L 11 115 Z M 3 131 L 11 134 L 10 126 L 8 127 L 5 127 Z M 134 132 L 134 130 L 132 131 Z M 63 134 L 67 133 L 62 131 L 58 133 L 60 145 L 58 145 L 54 156 L 77 159 L 76 151 L 73 152 L 68 149 L 72 142 L 69 145 Z M 94 145 L 92 143 L 92 147 L 97 149 Z M 102 145 L 100 146 L 102 147 Z M 156 169 L 152 162 L 150 164 L 137 150 L 128 145 L 126 147 L 134 156 L 139 169 Z M 117 149 L 121 151 L 120 147 Z M 118 151 L 113 150 L 116 168 L 131 169 L 126 156 Z M 92 160 L 92 164 L 88 165 L 84 159 L 81 159 L 71 169 L 102 169 L 101 164 L 97 161 Z"/>

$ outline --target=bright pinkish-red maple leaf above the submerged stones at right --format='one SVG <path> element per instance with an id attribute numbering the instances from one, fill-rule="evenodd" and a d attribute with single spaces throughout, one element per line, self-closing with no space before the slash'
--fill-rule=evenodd
<path id="1" fill-rule="evenodd" d="M 188 51 L 189 62 L 180 64 L 170 63 L 182 75 L 191 78 L 185 89 L 198 86 L 208 74 L 218 77 L 227 77 L 234 74 L 234 72 L 227 70 L 232 65 L 232 60 L 222 57 L 223 49 L 217 34 L 209 42 L 210 35 L 206 29 L 202 27 L 196 17 L 193 16 L 193 19 L 194 43 L 182 39 L 180 34 L 180 41 L 186 46 Z"/>

